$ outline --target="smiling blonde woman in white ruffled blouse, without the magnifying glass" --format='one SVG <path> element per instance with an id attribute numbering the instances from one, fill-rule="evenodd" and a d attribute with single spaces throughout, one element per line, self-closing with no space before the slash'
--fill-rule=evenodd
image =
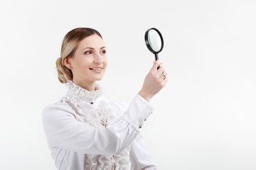
<path id="1" fill-rule="evenodd" d="M 166 84 L 155 61 L 129 105 L 102 95 L 96 81 L 107 68 L 105 43 L 97 30 L 75 28 L 65 35 L 56 61 L 68 94 L 43 109 L 43 128 L 57 169 L 156 169 L 139 132 L 153 108 L 150 99 Z"/>

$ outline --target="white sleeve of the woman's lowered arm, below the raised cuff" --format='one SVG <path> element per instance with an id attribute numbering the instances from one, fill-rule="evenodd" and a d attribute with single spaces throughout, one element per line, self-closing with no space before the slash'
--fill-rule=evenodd
<path id="1" fill-rule="evenodd" d="M 131 169 L 133 170 L 155 170 L 156 164 L 146 148 L 142 135 L 139 133 L 131 144 L 130 152 Z"/>

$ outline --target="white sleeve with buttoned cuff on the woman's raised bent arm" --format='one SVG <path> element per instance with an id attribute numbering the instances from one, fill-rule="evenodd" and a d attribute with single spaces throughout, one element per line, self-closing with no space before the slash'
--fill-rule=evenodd
<path id="1" fill-rule="evenodd" d="M 43 128 L 48 142 L 56 147 L 84 154 L 119 154 L 137 137 L 138 127 L 152 110 L 137 95 L 121 118 L 106 128 L 95 128 L 76 120 L 73 110 L 53 105 L 43 109 Z"/>

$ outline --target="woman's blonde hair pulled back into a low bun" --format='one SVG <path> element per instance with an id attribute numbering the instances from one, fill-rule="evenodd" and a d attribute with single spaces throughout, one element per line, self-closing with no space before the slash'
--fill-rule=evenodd
<path id="1" fill-rule="evenodd" d="M 65 35 L 61 45 L 60 57 L 56 60 L 56 69 L 60 83 L 66 83 L 67 80 L 73 80 L 71 69 L 68 69 L 68 67 L 65 67 L 64 65 L 65 58 L 73 57 L 80 41 L 93 34 L 97 34 L 102 38 L 102 35 L 92 28 L 75 28 Z"/>

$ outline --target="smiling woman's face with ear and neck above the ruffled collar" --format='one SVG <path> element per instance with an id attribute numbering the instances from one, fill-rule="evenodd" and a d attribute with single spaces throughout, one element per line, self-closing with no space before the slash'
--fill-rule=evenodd
<path id="1" fill-rule="evenodd" d="M 101 80 L 107 68 L 106 47 L 102 38 L 93 34 L 83 39 L 70 63 L 74 82 Z"/>

